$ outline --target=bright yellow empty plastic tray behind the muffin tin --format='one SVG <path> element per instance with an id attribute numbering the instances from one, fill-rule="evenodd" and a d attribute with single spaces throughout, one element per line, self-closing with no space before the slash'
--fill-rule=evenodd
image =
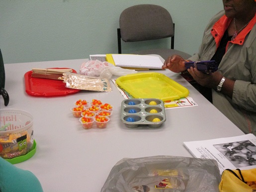
<path id="1" fill-rule="evenodd" d="M 163 101 L 188 96 L 188 89 L 161 73 L 137 73 L 121 76 L 116 84 L 134 98 L 158 98 Z"/>

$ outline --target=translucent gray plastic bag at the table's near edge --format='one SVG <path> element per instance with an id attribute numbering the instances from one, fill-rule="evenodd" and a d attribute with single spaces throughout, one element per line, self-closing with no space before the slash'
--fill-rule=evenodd
<path id="1" fill-rule="evenodd" d="M 219 192 L 220 181 L 215 160 L 154 156 L 117 162 L 101 192 Z"/>

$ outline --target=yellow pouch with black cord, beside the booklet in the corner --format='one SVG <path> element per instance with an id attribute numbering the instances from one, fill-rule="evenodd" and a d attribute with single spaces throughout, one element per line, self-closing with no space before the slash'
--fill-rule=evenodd
<path id="1" fill-rule="evenodd" d="M 219 190 L 220 192 L 256 192 L 256 169 L 224 170 Z"/>

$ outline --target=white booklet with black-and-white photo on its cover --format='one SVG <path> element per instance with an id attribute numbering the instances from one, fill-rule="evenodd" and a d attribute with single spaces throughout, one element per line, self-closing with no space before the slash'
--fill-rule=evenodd
<path id="1" fill-rule="evenodd" d="M 196 158 L 215 159 L 220 174 L 225 169 L 256 168 L 256 136 L 246 134 L 235 137 L 183 142 Z"/>

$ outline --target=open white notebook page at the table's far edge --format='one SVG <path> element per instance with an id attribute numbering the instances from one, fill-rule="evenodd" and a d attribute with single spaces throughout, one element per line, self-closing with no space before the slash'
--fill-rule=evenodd
<path id="1" fill-rule="evenodd" d="M 133 55 L 133 54 L 109 54 L 112 56 L 115 66 L 124 68 L 162 69 L 163 63 L 158 56 Z"/>

